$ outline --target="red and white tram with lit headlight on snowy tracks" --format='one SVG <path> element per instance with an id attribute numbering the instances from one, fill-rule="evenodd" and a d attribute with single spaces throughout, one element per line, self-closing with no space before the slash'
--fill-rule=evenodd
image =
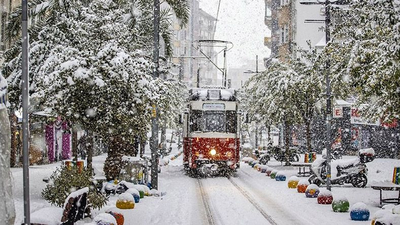
<path id="1" fill-rule="evenodd" d="M 224 87 L 193 88 L 185 104 L 185 170 L 236 171 L 240 165 L 241 118 L 236 91 Z"/>

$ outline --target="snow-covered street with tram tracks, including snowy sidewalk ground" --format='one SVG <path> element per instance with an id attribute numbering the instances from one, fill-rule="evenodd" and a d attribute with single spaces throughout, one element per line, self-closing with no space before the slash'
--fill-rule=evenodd
<path id="1" fill-rule="evenodd" d="M 93 158 L 96 173 L 102 173 L 106 155 Z M 379 208 L 379 192 L 370 188 L 371 183 L 390 177 L 390 170 L 398 165 L 397 159 L 376 159 L 369 163 L 369 184 L 366 188 L 351 185 L 332 188 L 334 196 L 345 196 L 350 204 L 364 202 L 371 214 Z M 41 191 L 49 176 L 59 165 L 30 167 L 31 211 L 49 206 L 42 199 Z M 298 171 L 271 162 L 270 166 L 285 172 L 287 177 Z M 388 168 L 385 169 L 384 168 Z M 390 170 L 389 170 L 390 169 Z M 13 168 L 13 191 L 16 202 L 17 222 L 23 219 L 22 169 Z M 201 185 L 200 185 L 201 184 Z M 201 188 L 202 186 L 202 188 Z M 191 178 L 184 174 L 182 156 L 162 167 L 159 187 L 166 191 L 160 198 L 145 197 L 135 209 L 125 214 L 125 224 L 370 224 L 371 221 L 350 220 L 349 213 L 334 213 L 330 205 L 318 205 L 316 199 L 306 198 L 287 182 L 266 177 L 247 164 L 242 163 L 235 176 Z M 321 187 L 324 188 L 324 187 Z M 385 195 L 393 196 L 388 192 Z M 107 206 L 93 214 L 115 207 L 117 197 L 111 196 Z"/>

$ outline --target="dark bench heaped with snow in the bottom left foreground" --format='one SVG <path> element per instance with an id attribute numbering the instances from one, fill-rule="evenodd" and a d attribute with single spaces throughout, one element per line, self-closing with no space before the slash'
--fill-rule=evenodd
<path id="1" fill-rule="evenodd" d="M 88 187 L 72 192 L 64 207 L 46 207 L 30 215 L 31 225 L 73 225 L 85 217 Z"/>

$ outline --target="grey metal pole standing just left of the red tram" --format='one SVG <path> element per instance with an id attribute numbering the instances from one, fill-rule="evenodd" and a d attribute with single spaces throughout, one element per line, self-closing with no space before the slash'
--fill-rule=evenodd
<path id="1" fill-rule="evenodd" d="M 154 0 L 154 49 L 153 49 L 153 63 L 155 68 L 153 70 L 153 78 L 158 78 L 158 59 L 159 59 L 159 29 L 160 29 L 160 2 Z M 153 115 L 151 118 L 151 186 L 158 189 L 158 113 L 157 106 L 153 106 Z"/>

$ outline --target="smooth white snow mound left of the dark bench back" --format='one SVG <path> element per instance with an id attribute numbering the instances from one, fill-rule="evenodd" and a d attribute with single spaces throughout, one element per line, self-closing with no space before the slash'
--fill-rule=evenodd
<path id="1" fill-rule="evenodd" d="M 46 207 L 31 213 L 30 222 L 37 224 L 58 225 L 61 224 L 62 208 Z M 3 213 L 3 212 L 2 212 Z"/>

